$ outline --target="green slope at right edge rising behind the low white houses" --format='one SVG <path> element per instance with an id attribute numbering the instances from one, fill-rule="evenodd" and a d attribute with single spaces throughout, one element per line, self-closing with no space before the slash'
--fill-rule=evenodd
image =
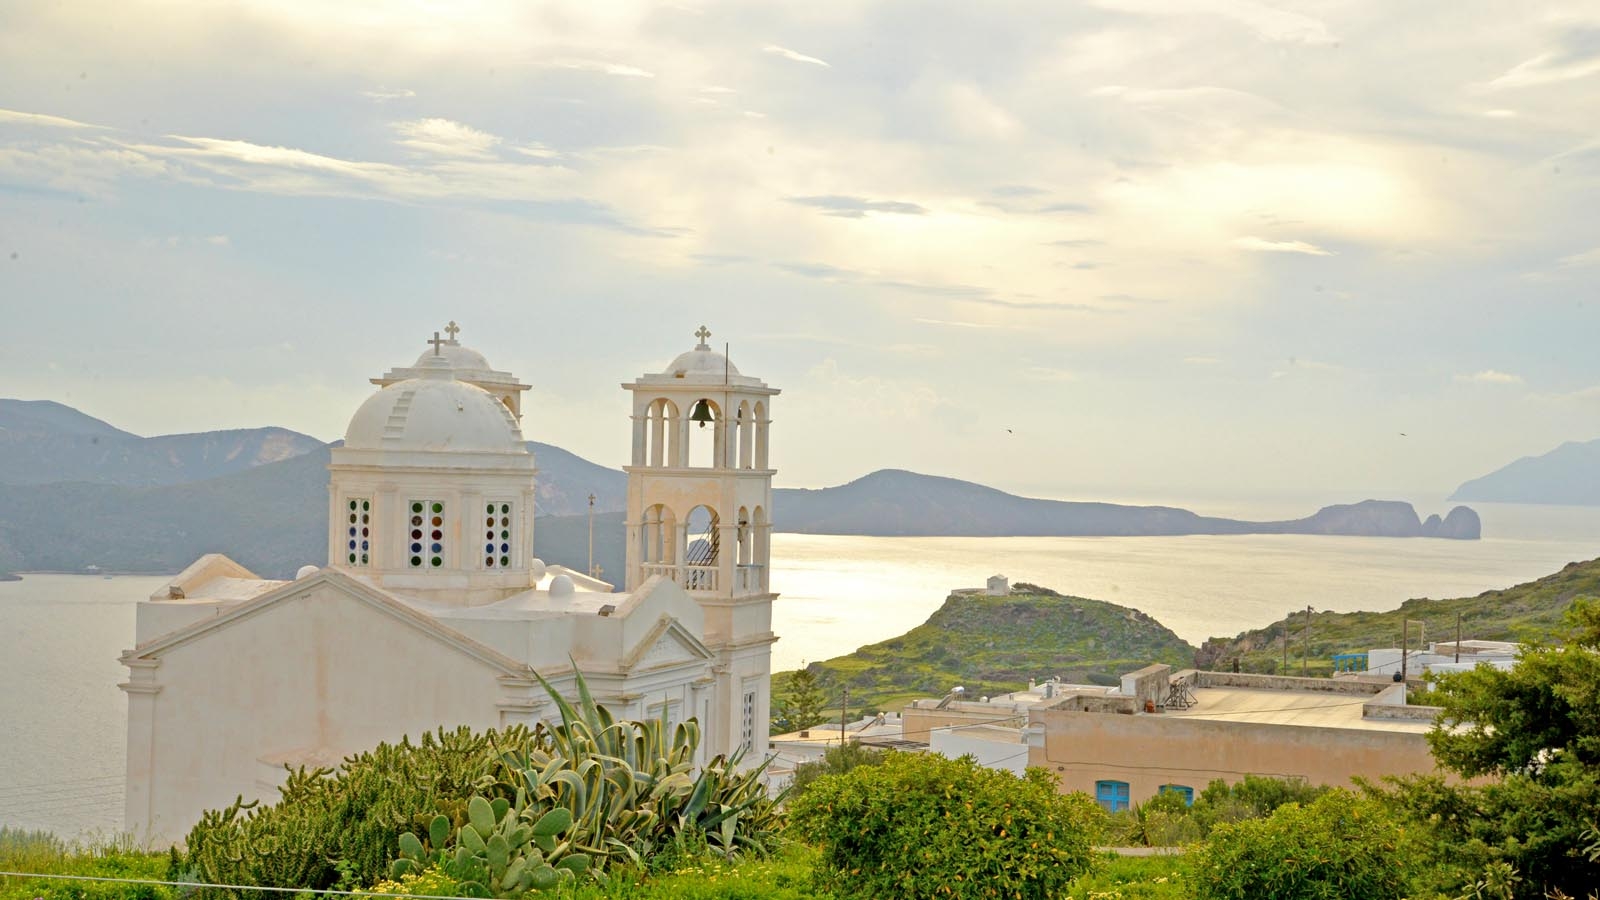
<path id="1" fill-rule="evenodd" d="M 1570 562 L 1538 581 L 1485 591 L 1453 601 L 1414 599 L 1390 612 L 1320 612 L 1310 618 L 1310 674 L 1333 671 L 1334 653 L 1365 653 L 1374 647 L 1398 647 L 1402 620 L 1411 620 L 1411 647 L 1427 641 L 1453 641 L 1456 615 L 1461 637 L 1477 641 L 1547 639 L 1560 629 L 1562 613 L 1574 597 L 1600 597 L 1600 559 Z M 1288 671 L 1301 673 L 1306 647 L 1306 615 L 1286 623 L 1246 631 L 1237 637 L 1213 637 L 1195 653 L 1202 668 L 1230 668 L 1234 660 L 1251 673 L 1283 668 L 1283 631 L 1288 628 Z"/>

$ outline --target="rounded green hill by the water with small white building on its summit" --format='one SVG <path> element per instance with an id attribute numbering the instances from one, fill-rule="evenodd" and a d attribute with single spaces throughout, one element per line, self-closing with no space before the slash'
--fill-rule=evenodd
<path id="1" fill-rule="evenodd" d="M 1029 679 L 1115 684 L 1150 663 L 1189 666 L 1195 649 L 1139 610 L 1067 597 L 1035 585 L 1010 596 L 957 593 L 928 621 L 882 644 L 806 666 L 835 709 L 850 685 L 850 708 L 899 709 L 942 697 L 954 685 L 973 695 L 1027 687 Z M 773 677 L 782 700 L 789 673 Z"/>

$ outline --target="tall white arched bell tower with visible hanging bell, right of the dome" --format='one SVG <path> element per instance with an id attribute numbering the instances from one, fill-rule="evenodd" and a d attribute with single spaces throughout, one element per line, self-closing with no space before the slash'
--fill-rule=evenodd
<path id="1" fill-rule="evenodd" d="M 710 349 L 704 325 L 694 336 L 664 372 L 622 384 L 634 396 L 626 586 L 659 575 L 706 612 L 701 639 L 720 658 L 707 708 L 694 714 L 712 753 L 744 748 L 754 764 L 766 756 L 771 717 L 766 439 L 778 389 Z"/>

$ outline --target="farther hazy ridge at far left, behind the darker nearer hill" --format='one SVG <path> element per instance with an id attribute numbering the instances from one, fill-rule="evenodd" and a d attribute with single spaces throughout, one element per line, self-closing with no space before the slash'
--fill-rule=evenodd
<path id="1" fill-rule="evenodd" d="M 0 484 L 197 482 L 322 447 L 283 428 L 139 437 L 51 400 L 0 400 Z"/>

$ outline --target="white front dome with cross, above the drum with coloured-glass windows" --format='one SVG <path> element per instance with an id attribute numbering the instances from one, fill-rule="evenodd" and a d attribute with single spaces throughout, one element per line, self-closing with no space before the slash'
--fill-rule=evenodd
<path id="1" fill-rule="evenodd" d="M 482 359 L 482 357 L 478 357 Z M 395 381 L 355 410 L 352 450 L 526 453 L 515 416 L 488 391 L 456 381 L 432 351 L 422 378 Z"/>

